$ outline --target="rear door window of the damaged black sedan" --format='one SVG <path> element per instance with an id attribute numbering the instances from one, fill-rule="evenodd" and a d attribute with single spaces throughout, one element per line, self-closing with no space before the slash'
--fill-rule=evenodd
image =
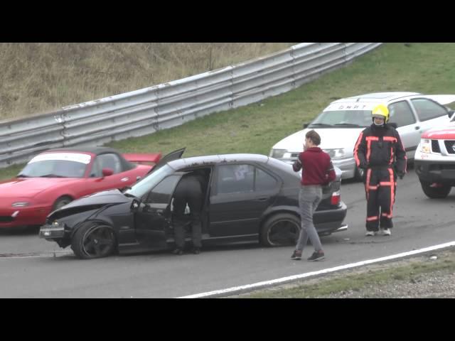
<path id="1" fill-rule="evenodd" d="M 217 193 L 252 192 L 255 185 L 255 167 L 251 165 L 218 166 Z"/>

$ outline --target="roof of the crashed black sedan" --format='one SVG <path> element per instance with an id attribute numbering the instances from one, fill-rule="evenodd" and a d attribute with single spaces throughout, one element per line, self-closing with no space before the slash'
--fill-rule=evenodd
<path id="1" fill-rule="evenodd" d="M 178 158 L 168 163 L 174 169 L 186 167 L 204 166 L 206 163 L 236 163 L 236 162 L 260 162 L 267 163 L 269 157 L 261 154 L 235 153 L 207 156 L 193 156 L 191 158 Z"/>

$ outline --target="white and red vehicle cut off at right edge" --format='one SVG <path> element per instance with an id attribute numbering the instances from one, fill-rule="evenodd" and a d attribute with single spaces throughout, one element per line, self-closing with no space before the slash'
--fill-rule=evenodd
<path id="1" fill-rule="evenodd" d="M 443 198 L 455 186 L 455 115 L 449 124 L 429 129 L 414 157 L 415 172 L 427 197 Z"/>

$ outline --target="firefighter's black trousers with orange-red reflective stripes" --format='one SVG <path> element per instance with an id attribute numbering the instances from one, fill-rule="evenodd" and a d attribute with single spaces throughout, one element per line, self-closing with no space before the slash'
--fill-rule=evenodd
<path id="1" fill-rule="evenodd" d="M 397 181 L 392 168 L 368 168 L 365 176 L 368 231 L 391 229 L 392 208 L 395 203 Z"/>

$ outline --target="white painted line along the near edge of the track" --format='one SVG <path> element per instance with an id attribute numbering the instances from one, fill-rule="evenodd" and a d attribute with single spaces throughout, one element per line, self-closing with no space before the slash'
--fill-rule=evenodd
<path id="1" fill-rule="evenodd" d="M 406 256 L 412 256 L 414 254 L 423 254 L 424 252 L 434 251 L 434 250 L 438 250 L 438 249 L 445 249 L 447 247 L 454 247 L 454 246 L 455 246 L 455 242 L 449 242 L 449 243 L 445 243 L 445 244 L 434 245 L 433 247 L 425 247 L 424 249 L 402 252 L 401 254 L 393 254 L 392 256 L 385 256 L 385 257 L 380 257 L 377 259 L 368 259 L 366 261 L 358 261 L 357 263 L 335 266 L 335 267 L 329 268 L 329 269 L 307 272 L 306 274 L 282 277 L 282 278 L 273 279 L 272 281 L 262 281 L 262 282 L 258 282 L 258 283 L 247 284 L 246 286 L 235 286 L 232 288 L 227 288 L 227 289 L 222 289 L 222 290 L 208 291 L 207 293 L 196 293 L 194 295 L 182 296 L 182 297 L 178 297 L 178 298 L 201 298 L 201 297 L 208 297 L 208 296 L 221 296 L 222 294 L 225 294 L 225 293 L 234 293 L 236 291 L 245 291 L 247 289 L 251 290 L 251 289 L 257 289 L 257 288 L 264 287 L 264 286 L 272 286 L 277 283 L 295 281 L 296 279 L 299 279 L 299 278 L 306 278 L 306 277 L 316 276 L 316 275 L 320 275 L 320 274 L 328 274 L 328 273 L 335 272 L 335 271 L 355 268 L 357 266 L 379 263 L 380 261 L 389 261 L 390 259 L 397 259 L 397 258 L 402 258 L 402 257 L 406 257 Z"/>

